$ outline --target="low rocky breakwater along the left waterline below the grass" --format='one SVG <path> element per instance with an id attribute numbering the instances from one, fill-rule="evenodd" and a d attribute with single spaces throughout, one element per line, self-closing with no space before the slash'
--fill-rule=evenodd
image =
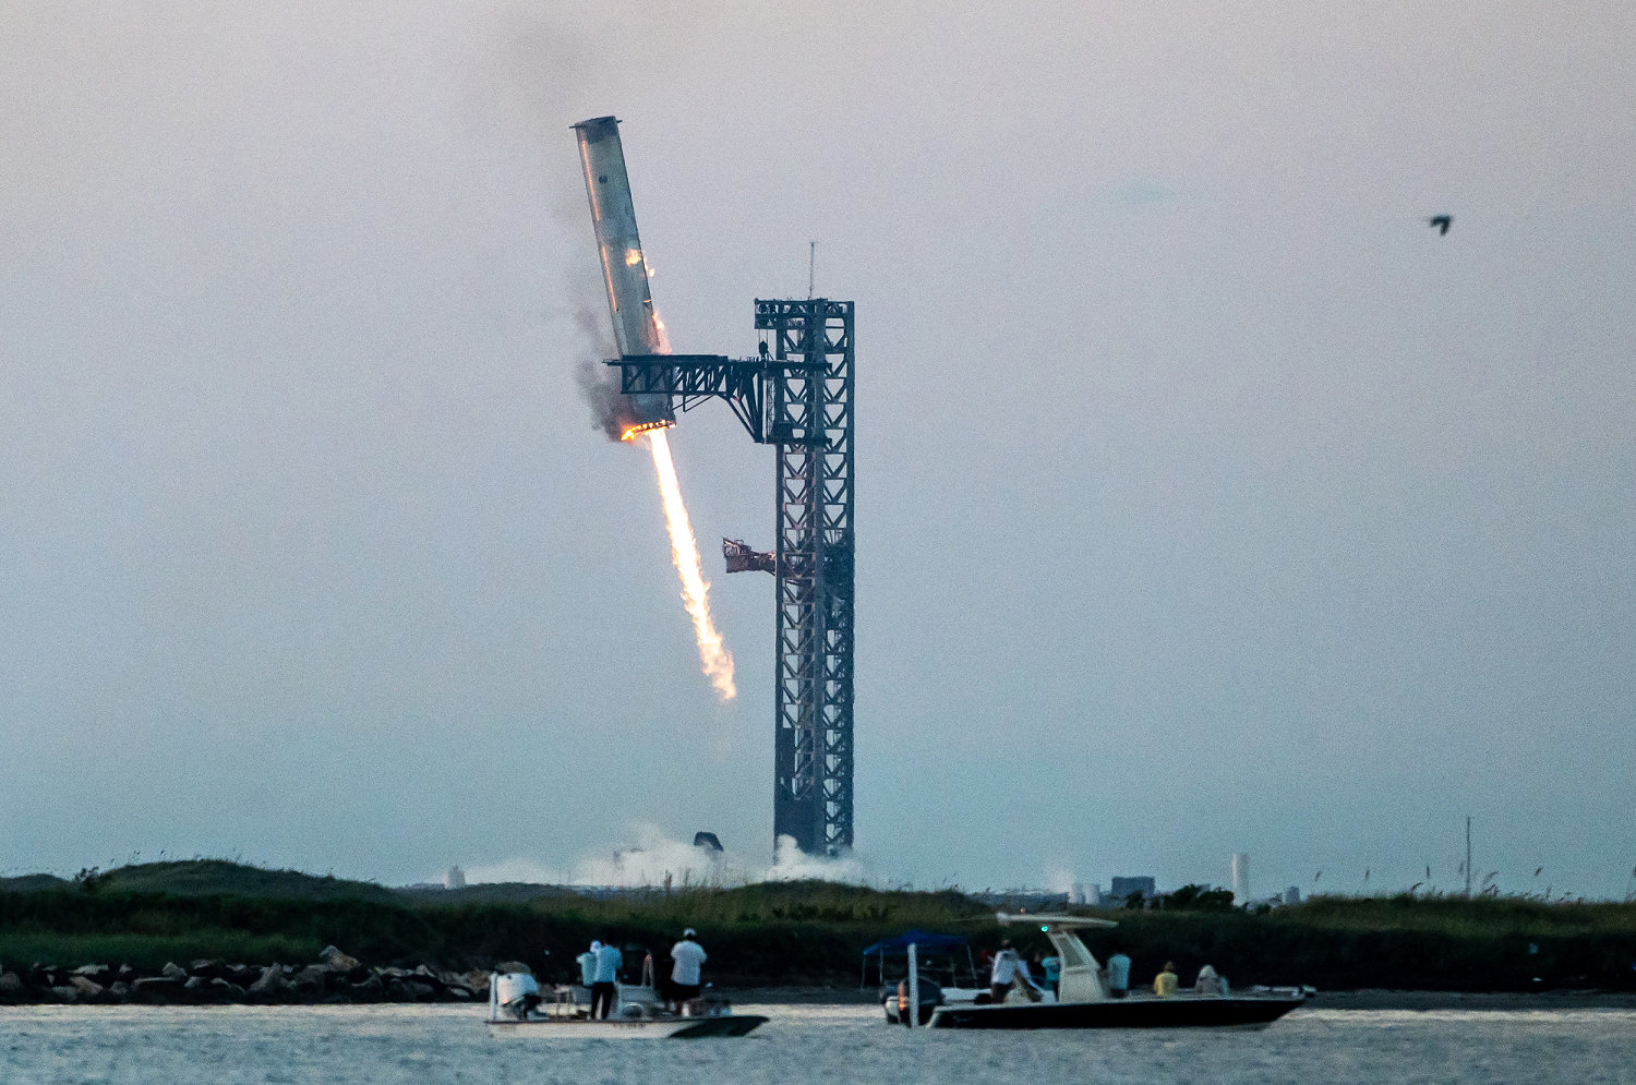
<path id="1" fill-rule="evenodd" d="M 49 964 L 0 967 L 0 1005 L 208 1005 L 208 1003 L 358 1003 L 358 1002 L 473 1002 L 489 997 L 489 974 L 371 967 L 334 946 L 317 962 L 226 964 L 191 961 L 142 972 L 129 964 Z"/>

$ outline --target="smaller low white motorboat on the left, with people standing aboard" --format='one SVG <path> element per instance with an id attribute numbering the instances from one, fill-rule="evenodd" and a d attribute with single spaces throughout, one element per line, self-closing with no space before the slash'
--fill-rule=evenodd
<path id="1" fill-rule="evenodd" d="M 766 1021 L 764 1016 L 733 1013 L 726 998 L 715 995 L 684 1003 L 682 1013 L 667 1013 L 653 987 L 635 984 L 618 984 L 614 1011 L 607 1018 L 592 1018 L 571 987 L 555 987 L 545 997 L 527 972 L 489 975 L 488 1026 L 496 1036 L 707 1039 L 743 1036 Z"/>

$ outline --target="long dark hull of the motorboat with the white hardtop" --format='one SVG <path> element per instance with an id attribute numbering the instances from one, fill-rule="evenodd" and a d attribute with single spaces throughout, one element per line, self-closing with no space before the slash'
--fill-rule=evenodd
<path id="1" fill-rule="evenodd" d="M 1104 1002 L 939 1006 L 931 1028 L 1266 1028 L 1302 997 L 1108 998 Z"/>

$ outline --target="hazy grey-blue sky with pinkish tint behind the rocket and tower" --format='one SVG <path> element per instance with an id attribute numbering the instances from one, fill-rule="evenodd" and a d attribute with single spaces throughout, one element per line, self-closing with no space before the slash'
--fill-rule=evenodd
<path id="1" fill-rule="evenodd" d="M 857 301 L 874 877 L 1628 892 L 1628 5 L 342 8 L 0 13 L 0 869 L 766 859 L 771 452 L 672 442 L 723 707 L 574 391 L 615 113 L 679 350 Z"/>

